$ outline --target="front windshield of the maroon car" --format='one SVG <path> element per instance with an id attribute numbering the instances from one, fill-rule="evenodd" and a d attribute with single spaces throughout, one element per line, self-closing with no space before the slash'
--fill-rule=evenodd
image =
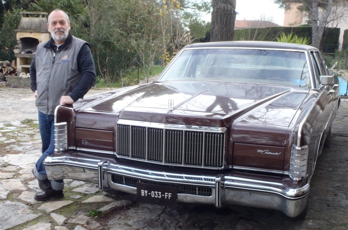
<path id="1" fill-rule="evenodd" d="M 303 52 L 258 49 L 183 51 L 159 81 L 207 80 L 311 87 Z"/>

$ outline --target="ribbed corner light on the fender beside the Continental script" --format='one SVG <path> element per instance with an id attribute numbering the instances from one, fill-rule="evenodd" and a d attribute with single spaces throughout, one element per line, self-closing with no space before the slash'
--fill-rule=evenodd
<path id="1" fill-rule="evenodd" d="M 292 145 L 290 159 L 290 177 L 294 181 L 302 180 L 306 177 L 308 160 L 308 145 Z"/>

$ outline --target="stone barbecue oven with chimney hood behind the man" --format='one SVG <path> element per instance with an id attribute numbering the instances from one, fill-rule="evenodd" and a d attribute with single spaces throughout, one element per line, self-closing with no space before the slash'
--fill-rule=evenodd
<path id="1" fill-rule="evenodd" d="M 15 50 L 17 76 L 29 73 L 37 45 L 50 39 L 50 33 L 47 30 L 47 13 L 20 12 L 20 14 L 21 22 L 15 30 L 19 45 L 19 49 Z"/>

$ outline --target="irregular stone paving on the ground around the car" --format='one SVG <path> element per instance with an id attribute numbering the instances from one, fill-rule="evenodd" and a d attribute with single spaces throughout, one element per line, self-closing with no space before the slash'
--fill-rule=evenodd
<path id="1" fill-rule="evenodd" d="M 32 92 L 0 88 L 0 98 L 0 230 L 348 229 L 348 99 L 342 100 L 330 147 L 319 156 L 306 219 L 294 222 L 259 208 L 138 203 L 132 195 L 110 195 L 76 180 L 65 180 L 63 199 L 34 201 L 40 189 L 31 168 L 41 155 L 41 141 Z"/>

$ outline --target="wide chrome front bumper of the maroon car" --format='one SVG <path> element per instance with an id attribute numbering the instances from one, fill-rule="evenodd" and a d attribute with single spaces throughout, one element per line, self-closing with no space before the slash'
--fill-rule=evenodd
<path id="1" fill-rule="evenodd" d="M 178 193 L 178 202 L 214 204 L 238 204 L 282 211 L 289 217 L 299 215 L 305 208 L 309 194 L 309 184 L 290 188 L 281 180 L 272 177 L 251 176 L 248 173 L 206 173 L 192 171 L 180 173 L 183 169 L 146 169 L 144 166 L 129 165 L 115 156 L 95 153 L 65 151 L 54 153 L 44 161 L 50 180 L 76 179 L 98 184 L 100 189 L 114 189 L 136 194 L 137 188 L 126 181 L 146 181 L 147 183 L 193 186 L 211 189 L 210 195 Z M 201 173 L 203 172 L 203 173 Z M 123 178 L 116 180 L 117 178 Z M 269 178 L 272 178 L 271 180 Z"/>

